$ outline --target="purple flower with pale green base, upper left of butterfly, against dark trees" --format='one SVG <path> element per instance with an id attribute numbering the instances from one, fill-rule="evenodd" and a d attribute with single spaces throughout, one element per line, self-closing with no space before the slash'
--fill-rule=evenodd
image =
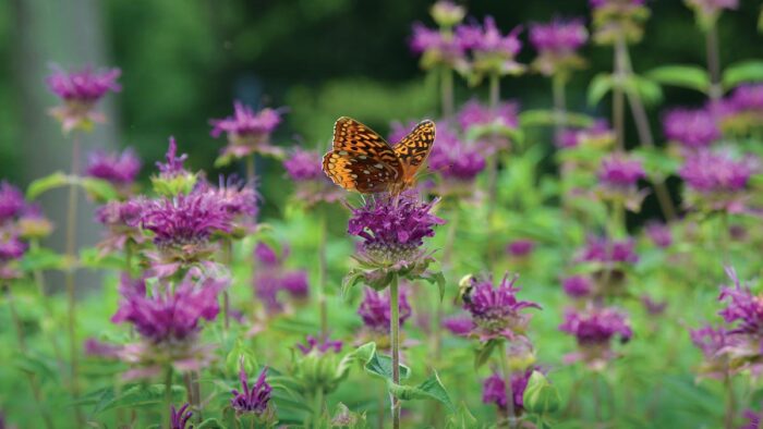
<path id="1" fill-rule="evenodd" d="M 211 136 L 217 138 L 222 133 L 228 135 L 229 145 L 223 149 L 223 156 L 243 158 L 254 152 L 264 155 L 280 155 L 278 147 L 270 145 L 270 134 L 282 121 L 282 112 L 265 108 L 255 111 L 240 101 L 233 103 L 233 115 L 223 119 L 213 119 Z"/>

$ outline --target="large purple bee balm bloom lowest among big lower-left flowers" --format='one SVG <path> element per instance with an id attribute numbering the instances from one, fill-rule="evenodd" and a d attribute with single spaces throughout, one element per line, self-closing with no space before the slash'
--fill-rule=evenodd
<path id="1" fill-rule="evenodd" d="M 202 329 L 202 320 L 215 320 L 220 311 L 217 295 L 228 280 L 194 280 L 186 275 L 173 290 L 169 284 L 157 284 L 150 296 L 144 283 L 132 283 L 122 279 L 122 301 L 111 321 L 133 324 L 152 344 L 173 345 L 193 341 Z"/>

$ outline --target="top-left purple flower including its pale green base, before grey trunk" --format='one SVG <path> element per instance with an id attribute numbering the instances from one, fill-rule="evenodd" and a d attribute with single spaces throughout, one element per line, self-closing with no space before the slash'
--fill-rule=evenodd
<path id="1" fill-rule="evenodd" d="M 94 122 L 104 122 L 102 114 L 93 109 L 106 93 L 121 90 L 117 84 L 120 74 L 119 69 L 94 71 L 87 66 L 66 73 L 55 68 L 46 82 L 50 90 L 63 100 L 63 106 L 53 108 L 50 113 L 61 122 L 65 132 L 76 127 L 88 130 Z"/>

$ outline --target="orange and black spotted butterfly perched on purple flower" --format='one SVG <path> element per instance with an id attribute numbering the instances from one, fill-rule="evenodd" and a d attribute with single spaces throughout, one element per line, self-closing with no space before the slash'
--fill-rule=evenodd
<path id="1" fill-rule="evenodd" d="M 435 123 L 420 122 L 390 146 L 378 133 L 342 117 L 334 124 L 334 146 L 323 170 L 337 185 L 361 194 L 399 194 L 411 187 L 435 143 Z"/>

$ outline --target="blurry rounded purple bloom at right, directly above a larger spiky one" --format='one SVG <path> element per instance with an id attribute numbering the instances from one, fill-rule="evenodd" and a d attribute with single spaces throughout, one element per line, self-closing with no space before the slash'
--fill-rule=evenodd
<path id="1" fill-rule="evenodd" d="M 715 115 L 708 110 L 674 109 L 663 117 L 665 136 L 688 149 L 704 148 L 720 138 Z"/>

